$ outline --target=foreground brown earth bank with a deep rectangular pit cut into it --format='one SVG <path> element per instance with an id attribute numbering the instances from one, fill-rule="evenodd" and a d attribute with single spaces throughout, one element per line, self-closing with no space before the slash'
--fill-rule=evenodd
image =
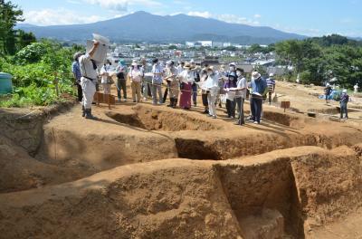
<path id="1" fill-rule="evenodd" d="M 310 222 L 322 218 L 323 226 L 362 201 L 355 152 L 335 151 L 337 157 L 301 147 L 217 162 L 167 159 L 2 194 L 0 233 L 5 238 L 281 238 L 285 232 L 309 237 L 304 230 Z M 255 226 L 258 221 L 262 226 Z"/>

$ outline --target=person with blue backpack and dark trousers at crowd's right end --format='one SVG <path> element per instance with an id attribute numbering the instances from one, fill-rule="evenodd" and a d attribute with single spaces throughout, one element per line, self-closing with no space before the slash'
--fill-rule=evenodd
<path id="1" fill-rule="evenodd" d="M 252 81 L 250 82 L 252 95 L 250 99 L 250 107 L 252 112 L 252 121 L 254 124 L 260 124 L 262 116 L 262 95 L 267 90 L 266 81 L 262 79 L 259 72 L 252 72 Z"/>

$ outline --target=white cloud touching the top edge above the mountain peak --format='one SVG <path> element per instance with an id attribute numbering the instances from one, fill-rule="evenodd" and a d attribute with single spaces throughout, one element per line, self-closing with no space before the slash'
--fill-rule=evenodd
<path id="1" fill-rule="evenodd" d="M 90 5 L 100 5 L 104 9 L 117 12 L 127 12 L 129 5 L 142 5 L 147 7 L 160 7 L 161 3 L 156 0 L 83 0 Z"/>

